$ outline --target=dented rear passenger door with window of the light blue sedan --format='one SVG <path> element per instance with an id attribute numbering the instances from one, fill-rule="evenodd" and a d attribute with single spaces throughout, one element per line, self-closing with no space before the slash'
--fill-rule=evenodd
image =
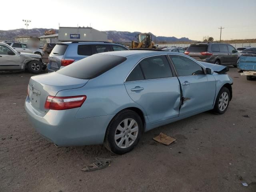
<path id="1" fill-rule="evenodd" d="M 130 98 L 144 108 L 151 124 L 178 117 L 180 85 L 178 78 L 169 74 L 171 70 L 166 57 L 146 58 L 140 64 L 124 83 Z"/>

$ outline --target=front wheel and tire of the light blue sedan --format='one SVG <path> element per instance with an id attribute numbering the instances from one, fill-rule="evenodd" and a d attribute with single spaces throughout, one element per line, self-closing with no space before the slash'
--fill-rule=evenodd
<path id="1" fill-rule="evenodd" d="M 218 114 L 224 114 L 228 109 L 230 102 L 230 92 L 228 88 L 222 87 L 215 101 L 214 112 Z"/>

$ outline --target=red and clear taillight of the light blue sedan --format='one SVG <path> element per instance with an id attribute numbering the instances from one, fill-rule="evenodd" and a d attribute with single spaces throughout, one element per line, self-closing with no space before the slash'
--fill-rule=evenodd
<path id="1" fill-rule="evenodd" d="M 81 107 L 86 100 L 85 95 L 70 96 L 70 97 L 54 97 L 48 96 L 44 108 L 52 110 L 65 110 Z"/>

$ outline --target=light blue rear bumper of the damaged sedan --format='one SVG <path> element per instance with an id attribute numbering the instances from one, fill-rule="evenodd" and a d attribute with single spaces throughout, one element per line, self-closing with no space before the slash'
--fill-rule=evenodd
<path id="1" fill-rule="evenodd" d="M 27 96 L 25 110 L 34 128 L 47 140 L 58 146 L 102 144 L 106 128 L 114 115 L 76 119 L 78 108 L 36 111 Z"/>

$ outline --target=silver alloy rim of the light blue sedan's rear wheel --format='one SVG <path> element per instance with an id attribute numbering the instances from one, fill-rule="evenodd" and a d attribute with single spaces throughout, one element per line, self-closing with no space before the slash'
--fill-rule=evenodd
<path id="1" fill-rule="evenodd" d="M 114 140 L 120 148 L 130 147 L 138 136 L 138 123 L 132 118 L 124 119 L 117 126 Z"/>

